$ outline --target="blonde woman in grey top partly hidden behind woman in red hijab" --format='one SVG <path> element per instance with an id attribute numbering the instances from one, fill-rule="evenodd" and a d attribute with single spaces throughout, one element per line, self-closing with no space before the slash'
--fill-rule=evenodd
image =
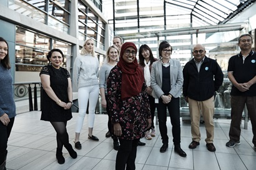
<path id="1" fill-rule="evenodd" d="M 109 116 L 109 121 L 107 122 L 107 127 L 109 128 L 108 133 L 111 134 L 111 137 L 114 141 L 114 149 L 119 149 L 119 143 L 117 136 L 112 135 L 112 123 L 111 123 L 111 115 L 109 113 L 109 108 L 107 106 L 107 77 L 109 77 L 109 73 L 111 69 L 117 64 L 117 60 L 119 58 L 119 50 L 117 49 L 116 45 L 112 45 L 107 50 L 106 54 L 106 62 L 101 66 L 99 70 L 99 91 L 101 93 L 101 105 L 103 108 L 107 108 L 107 115 Z M 106 137 L 108 135 L 106 134 Z"/>

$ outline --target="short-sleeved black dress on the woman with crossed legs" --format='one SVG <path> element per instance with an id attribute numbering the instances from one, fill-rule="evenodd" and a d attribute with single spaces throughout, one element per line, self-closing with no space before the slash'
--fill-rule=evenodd
<path id="1" fill-rule="evenodd" d="M 69 72 L 65 68 L 56 69 L 51 65 L 46 65 L 42 67 L 41 74 L 46 74 L 50 76 L 51 88 L 57 97 L 62 102 L 69 102 L 67 95 L 68 81 L 67 78 L 70 77 Z M 64 110 L 61 106 L 52 100 L 47 93 L 42 90 L 42 115 L 41 120 L 45 121 L 67 121 L 71 120 L 72 112 L 71 108 L 69 110 Z"/>

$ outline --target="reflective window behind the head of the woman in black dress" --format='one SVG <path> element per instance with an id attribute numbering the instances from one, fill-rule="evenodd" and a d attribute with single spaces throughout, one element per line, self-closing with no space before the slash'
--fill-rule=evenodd
<path id="1" fill-rule="evenodd" d="M 47 54 L 51 50 L 52 39 L 22 27 L 16 29 L 16 71 L 40 72 L 48 64 Z M 65 57 L 70 57 L 71 44 L 53 40 L 53 48 L 61 49 Z M 62 67 L 66 67 L 66 58 Z"/>

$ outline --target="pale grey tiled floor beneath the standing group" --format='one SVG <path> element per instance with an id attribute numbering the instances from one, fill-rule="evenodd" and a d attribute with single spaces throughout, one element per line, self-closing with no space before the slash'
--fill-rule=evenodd
<path id="1" fill-rule="evenodd" d="M 26 170 L 114 170 L 116 153 L 112 148 L 112 139 L 106 138 L 107 115 L 96 115 L 94 135 L 99 141 L 87 139 L 87 116 L 81 135 L 82 149 L 76 150 L 79 155 L 72 159 L 64 150 L 66 163 L 60 165 L 56 161 L 56 133 L 51 124 L 40 120 L 40 111 L 31 111 L 16 116 L 14 127 L 8 143 L 7 169 Z M 75 123 L 77 113 L 73 113 L 71 121 L 68 121 L 67 130 L 70 142 L 74 145 Z M 242 129 L 241 144 L 235 148 L 228 148 L 230 120 L 215 120 L 214 144 L 217 148 L 215 153 L 210 153 L 205 147 L 205 128 L 200 126 L 202 140 L 196 149 L 189 149 L 190 124 L 181 121 L 182 149 L 187 153 L 187 158 L 182 158 L 174 153 L 172 144 L 171 125 L 168 120 L 169 148 L 165 153 L 160 153 L 162 145 L 159 128 L 156 126 L 157 136 L 148 141 L 145 146 L 138 146 L 136 169 L 139 170 L 255 170 L 256 152 L 252 149 L 252 127 L 249 122 L 248 130 Z M 241 125 L 243 126 L 243 123 Z"/>

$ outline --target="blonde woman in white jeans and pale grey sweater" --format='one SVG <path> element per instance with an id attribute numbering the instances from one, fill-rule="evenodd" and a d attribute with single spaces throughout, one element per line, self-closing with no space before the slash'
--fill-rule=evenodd
<path id="1" fill-rule="evenodd" d="M 81 55 L 76 57 L 74 62 L 73 82 L 78 89 L 79 116 L 76 124 L 75 148 L 81 149 L 82 145 L 79 141 L 84 117 L 86 116 L 87 104 L 89 100 L 89 116 L 88 116 L 88 138 L 99 141 L 96 136 L 92 135 L 94 126 L 95 108 L 99 98 L 99 60 L 95 56 L 94 41 L 87 39 L 81 50 Z"/>

